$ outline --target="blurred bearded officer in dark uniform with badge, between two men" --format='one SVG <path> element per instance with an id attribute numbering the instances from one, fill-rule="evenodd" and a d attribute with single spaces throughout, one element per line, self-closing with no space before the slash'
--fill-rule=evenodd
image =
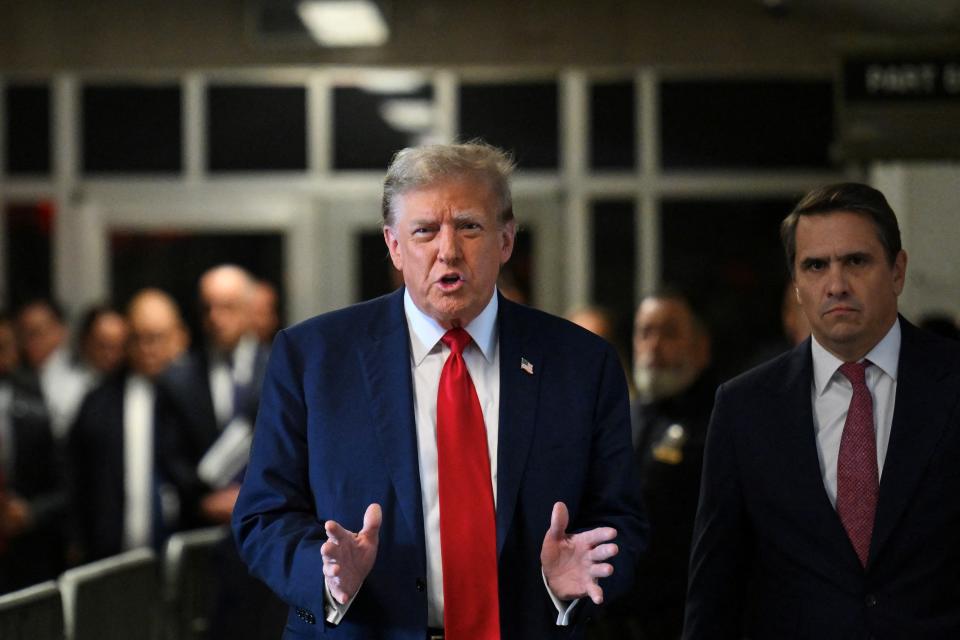
<path id="1" fill-rule="evenodd" d="M 716 390 L 710 334 L 685 293 L 667 287 L 643 298 L 634 320 L 633 359 L 633 438 L 650 547 L 632 595 L 599 618 L 591 635 L 677 640 Z"/>

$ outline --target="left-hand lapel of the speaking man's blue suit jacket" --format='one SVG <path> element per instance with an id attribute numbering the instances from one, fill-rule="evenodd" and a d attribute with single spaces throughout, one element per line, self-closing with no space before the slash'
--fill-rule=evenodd
<path id="1" fill-rule="evenodd" d="M 390 295 L 384 301 L 384 307 L 384 313 L 370 328 L 369 340 L 360 347 L 360 357 L 367 379 L 374 429 L 397 494 L 397 505 L 422 550 L 425 548 L 423 503 L 403 290 Z"/>

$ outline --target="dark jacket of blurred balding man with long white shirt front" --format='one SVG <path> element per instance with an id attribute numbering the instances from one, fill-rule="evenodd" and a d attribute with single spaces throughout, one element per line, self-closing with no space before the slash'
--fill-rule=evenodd
<path id="1" fill-rule="evenodd" d="M 73 535 L 84 561 L 123 550 L 123 410 L 127 378 L 127 372 L 110 376 L 91 391 L 70 430 Z M 181 514 L 185 514 L 197 499 L 195 465 L 185 452 L 175 416 L 155 408 L 153 426 L 154 468 L 162 482 L 177 490 Z M 182 526 L 182 522 L 173 523 L 165 533 Z"/>

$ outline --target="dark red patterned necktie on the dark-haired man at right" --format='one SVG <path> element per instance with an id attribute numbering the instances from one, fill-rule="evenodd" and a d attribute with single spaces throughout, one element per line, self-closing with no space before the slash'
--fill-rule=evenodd
<path id="1" fill-rule="evenodd" d="M 867 388 L 865 371 L 870 363 L 846 362 L 842 373 L 853 385 L 853 397 L 840 436 L 837 458 L 837 514 L 847 536 L 867 566 L 873 519 L 880 492 L 877 472 L 877 439 L 873 427 L 873 398 Z"/>

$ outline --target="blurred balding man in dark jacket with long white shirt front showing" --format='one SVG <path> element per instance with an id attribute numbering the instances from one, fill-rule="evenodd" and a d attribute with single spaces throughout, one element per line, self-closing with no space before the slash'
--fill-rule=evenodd
<path id="1" fill-rule="evenodd" d="M 163 291 L 146 289 L 130 301 L 126 322 L 128 364 L 87 395 L 70 431 L 73 542 L 84 562 L 159 550 L 189 521 L 198 490 L 177 416 L 163 410 L 154 386 L 185 347 L 180 311 Z"/>

